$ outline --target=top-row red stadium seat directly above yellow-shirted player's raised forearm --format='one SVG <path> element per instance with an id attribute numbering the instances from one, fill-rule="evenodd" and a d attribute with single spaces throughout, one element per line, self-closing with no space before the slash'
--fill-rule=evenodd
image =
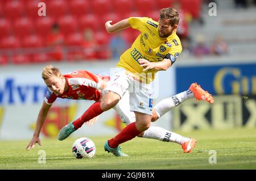
<path id="1" fill-rule="evenodd" d="M 119 16 L 122 16 L 123 13 L 130 14 L 133 10 L 134 3 L 131 0 L 114 0 L 114 11 Z"/>

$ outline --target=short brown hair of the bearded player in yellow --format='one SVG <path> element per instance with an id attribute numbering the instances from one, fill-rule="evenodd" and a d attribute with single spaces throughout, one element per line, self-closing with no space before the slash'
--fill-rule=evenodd
<path id="1" fill-rule="evenodd" d="M 179 24 L 179 13 L 173 7 L 167 7 L 160 10 L 159 19 L 170 19 L 171 26 Z"/>

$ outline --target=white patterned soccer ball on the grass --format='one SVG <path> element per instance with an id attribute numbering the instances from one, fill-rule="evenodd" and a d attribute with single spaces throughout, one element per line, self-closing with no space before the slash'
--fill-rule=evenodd
<path id="1" fill-rule="evenodd" d="M 79 138 L 72 146 L 72 153 L 76 158 L 92 158 L 95 152 L 94 142 L 89 138 Z"/>

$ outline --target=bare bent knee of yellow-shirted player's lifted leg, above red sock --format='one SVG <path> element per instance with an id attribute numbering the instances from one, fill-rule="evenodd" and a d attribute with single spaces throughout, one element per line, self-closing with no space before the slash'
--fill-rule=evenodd
<path id="1" fill-rule="evenodd" d="M 115 92 L 105 92 L 104 96 L 101 99 L 101 109 L 104 111 L 110 110 L 115 105 L 117 105 L 120 99 L 121 97 Z"/>

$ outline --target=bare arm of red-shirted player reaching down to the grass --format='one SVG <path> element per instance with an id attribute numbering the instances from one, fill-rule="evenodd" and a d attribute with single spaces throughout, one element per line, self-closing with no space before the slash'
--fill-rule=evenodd
<path id="1" fill-rule="evenodd" d="M 49 111 L 49 108 L 51 108 L 51 104 L 46 104 L 45 102 L 43 102 L 42 108 L 40 109 L 39 114 L 38 114 L 38 120 L 36 121 L 35 132 L 33 134 L 33 137 L 31 139 L 30 143 L 26 147 L 27 150 L 34 148 L 36 143 L 38 143 L 38 145 L 41 146 L 39 134 L 43 127 L 44 121 L 46 120 L 46 116 Z"/>

